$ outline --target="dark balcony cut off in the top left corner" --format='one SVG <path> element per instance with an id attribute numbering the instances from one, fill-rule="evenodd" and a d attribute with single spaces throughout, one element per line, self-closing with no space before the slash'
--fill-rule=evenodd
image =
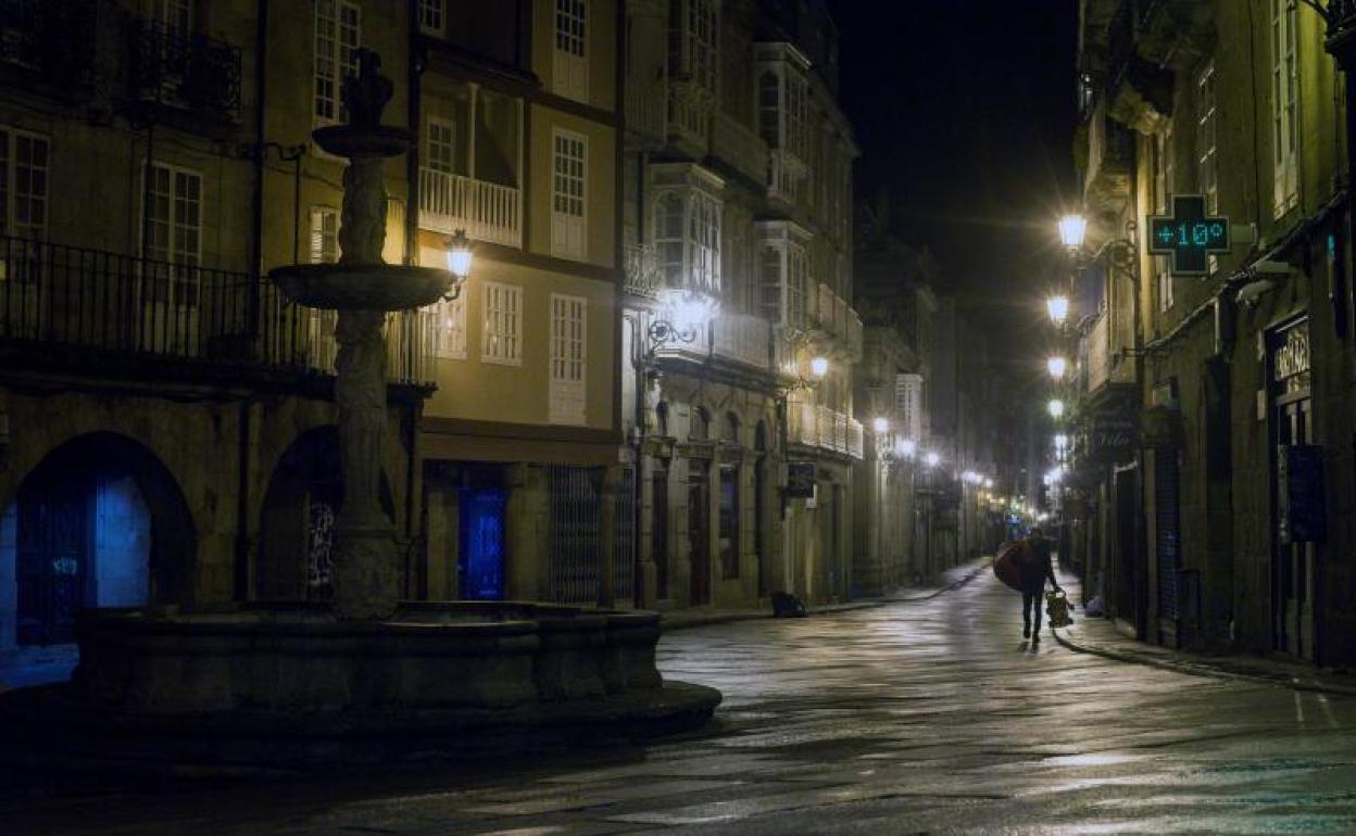
<path id="1" fill-rule="evenodd" d="M 94 0 L 0 0 L 0 64 L 60 98 L 88 98 L 95 19 Z"/>

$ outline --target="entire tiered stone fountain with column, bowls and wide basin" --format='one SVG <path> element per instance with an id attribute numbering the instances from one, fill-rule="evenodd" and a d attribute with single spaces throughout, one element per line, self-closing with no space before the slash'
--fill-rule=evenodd
<path id="1" fill-rule="evenodd" d="M 382 263 L 382 160 L 410 149 L 381 125 L 392 84 L 358 50 L 350 123 L 316 144 L 350 160 L 338 264 L 270 274 L 296 302 L 339 312 L 335 401 L 344 496 L 332 603 L 91 610 L 72 683 L 0 695 L 0 759 L 119 772 L 471 756 L 644 737 L 706 722 L 720 694 L 664 682 L 659 616 L 517 602 L 400 602 L 378 504 L 382 325 L 454 289 L 445 270 Z"/>

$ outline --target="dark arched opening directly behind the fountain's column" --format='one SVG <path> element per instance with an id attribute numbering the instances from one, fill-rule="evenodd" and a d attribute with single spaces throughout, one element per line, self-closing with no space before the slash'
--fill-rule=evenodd
<path id="1" fill-rule="evenodd" d="M 395 520 L 395 497 L 382 470 L 382 511 Z M 339 428 L 313 427 L 278 457 L 259 512 L 251 591 L 263 600 L 325 600 L 328 573 L 323 554 L 332 543 L 332 524 L 343 503 Z"/>

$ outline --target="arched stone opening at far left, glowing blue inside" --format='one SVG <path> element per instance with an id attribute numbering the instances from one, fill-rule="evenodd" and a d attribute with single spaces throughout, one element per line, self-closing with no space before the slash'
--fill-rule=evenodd
<path id="1" fill-rule="evenodd" d="M 193 602 L 198 531 L 148 447 L 77 435 L 18 484 L 0 516 L 0 650 L 72 642 L 80 608 Z"/>

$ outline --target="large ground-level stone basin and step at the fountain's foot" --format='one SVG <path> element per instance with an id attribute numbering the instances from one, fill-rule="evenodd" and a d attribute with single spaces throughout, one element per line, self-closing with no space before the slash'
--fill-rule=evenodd
<path id="1" fill-rule="evenodd" d="M 532 603 L 91 610 L 64 686 L 0 695 L 0 760 L 114 774 L 250 774 L 598 745 L 708 722 L 664 682 L 659 615 Z"/>

